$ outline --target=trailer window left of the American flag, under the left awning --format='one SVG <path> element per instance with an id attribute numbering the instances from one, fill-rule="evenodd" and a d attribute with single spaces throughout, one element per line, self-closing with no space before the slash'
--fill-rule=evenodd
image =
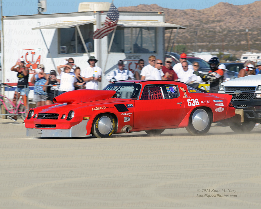
<path id="1" fill-rule="evenodd" d="M 88 51 L 94 52 L 93 24 L 81 25 L 79 28 Z M 83 43 L 81 42 L 81 38 L 76 27 L 60 28 L 59 30 L 59 54 L 85 53 Z"/>

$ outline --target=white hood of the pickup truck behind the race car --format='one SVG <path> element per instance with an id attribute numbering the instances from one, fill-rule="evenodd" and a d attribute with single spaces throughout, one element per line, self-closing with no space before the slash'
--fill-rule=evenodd
<path id="1" fill-rule="evenodd" d="M 250 75 L 241 78 L 235 78 L 226 82 L 223 82 L 223 86 L 259 86 L 261 85 L 261 74 Z"/>

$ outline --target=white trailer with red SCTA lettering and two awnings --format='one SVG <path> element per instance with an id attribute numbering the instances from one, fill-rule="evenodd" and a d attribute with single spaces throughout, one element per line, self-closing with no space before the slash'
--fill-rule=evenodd
<path id="1" fill-rule="evenodd" d="M 106 75 L 117 69 L 118 60 L 123 60 L 125 68 L 134 72 L 139 59 L 145 60 L 145 65 L 150 55 L 164 59 L 165 30 L 185 28 L 165 23 L 163 12 L 120 12 L 108 52 L 113 33 L 102 39 L 92 39 L 93 31 L 103 26 L 106 13 L 90 11 L 4 17 L 2 82 L 17 84 L 17 73 L 10 69 L 18 58 L 25 59 L 30 80 L 37 64 L 44 64 L 46 73 L 49 73 L 72 57 L 75 64 L 84 69 L 89 65 L 89 56 L 95 56 L 96 65 L 103 70 L 99 83 L 99 89 L 103 89 L 108 84 Z"/>

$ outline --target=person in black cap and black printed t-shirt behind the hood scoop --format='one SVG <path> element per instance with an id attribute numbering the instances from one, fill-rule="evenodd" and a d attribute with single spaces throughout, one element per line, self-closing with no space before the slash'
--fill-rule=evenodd
<path id="1" fill-rule="evenodd" d="M 56 78 L 55 70 L 51 70 L 50 75 L 47 76 L 47 81 L 44 85 L 45 86 L 43 87 L 43 91 L 46 91 L 48 96 L 45 104 L 51 105 L 53 104 L 53 98 L 58 96 L 60 86 L 60 80 Z"/>

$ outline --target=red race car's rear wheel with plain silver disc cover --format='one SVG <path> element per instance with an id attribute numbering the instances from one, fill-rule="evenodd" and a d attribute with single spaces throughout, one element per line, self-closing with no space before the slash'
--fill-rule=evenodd
<path id="1" fill-rule="evenodd" d="M 189 116 L 189 125 L 186 130 L 193 136 L 206 134 L 212 124 L 212 113 L 204 107 L 194 109 Z"/>

